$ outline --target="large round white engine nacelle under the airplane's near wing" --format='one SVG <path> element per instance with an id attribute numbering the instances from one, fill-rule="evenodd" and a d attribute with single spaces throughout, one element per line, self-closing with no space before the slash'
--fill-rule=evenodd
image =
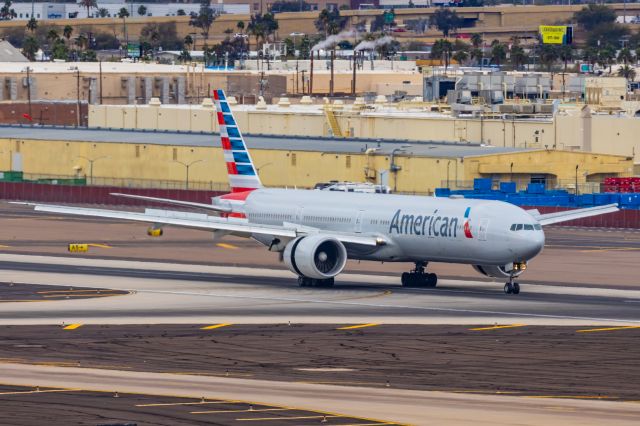
<path id="1" fill-rule="evenodd" d="M 310 235 L 291 240 L 282 258 L 291 272 L 324 280 L 342 272 L 347 263 L 347 249 L 335 238 Z"/>

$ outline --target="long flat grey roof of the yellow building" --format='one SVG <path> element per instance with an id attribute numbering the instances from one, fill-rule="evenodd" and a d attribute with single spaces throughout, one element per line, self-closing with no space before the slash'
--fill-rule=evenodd
<path id="1" fill-rule="evenodd" d="M 55 126 L 0 126 L 4 138 L 64 140 L 96 143 L 131 143 L 146 145 L 219 147 L 217 134 L 172 131 L 77 129 Z M 335 139 L 303 136 L 244 135 L 249 148 L 309 152 L 360 154 L 376 149 L 379 154 L 390 154 L 402 149 L 401 155 L 419 157 L 462 158 L 471 156 L 505 154 L 531 151 L 524 148 L 504 148 L 471 143 L 415 142 L 406 140 Z"/>

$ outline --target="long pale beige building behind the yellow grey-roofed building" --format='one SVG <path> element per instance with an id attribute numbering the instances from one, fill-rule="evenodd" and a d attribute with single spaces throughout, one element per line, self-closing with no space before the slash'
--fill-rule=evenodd
<path id="1" fill-rule="evenodd" d="M 313 102 L 310 98 L 303 102 Z M 361 100 L 359 102 L 362 102 Z M 315 103 L 291 105 L 235 105 L 240 128 L 252 135 L 284 135 L 359 139 L 480 143 L 503 148 L 584 151 L 632 158 L 640 165 L 640 119 L 631 113 L 640 106 L 625 104 L 615 113 L 589 105 L 562 107 L 555 115 L 487 115 L 455 117 L 425 111 L 429 105 L 383 102 L 351 105 Z M 215 108 L 209 99 L 201 105 L 137 105 L 89 107 L 89 126 L 124 129 L 161 129 L 216 132 Z M 636 170 L 637 172 L 638 170 Z"/>

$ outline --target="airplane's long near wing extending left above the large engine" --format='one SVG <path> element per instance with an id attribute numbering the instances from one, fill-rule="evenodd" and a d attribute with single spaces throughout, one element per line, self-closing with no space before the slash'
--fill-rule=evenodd
<path id="1" fill-rule="evenodd" d="M 252 224 L 246 220 L 224 219 L 205 214 L 172 212 L 168 210 L 148 209 L 144 213 L 125 212 L 119 210 L 92 209 L 83 207 L 56 206 L 49 204 L 15 203 L 34 206 L 35 211 L 68 214 L 76 216 L 90 216 L 108 219 L 122 219 L 136 222 L 153 223 L 157 225 L 171 225 L 203 231 L 224 231 L 234 235 L 251 237 L 252 235 L 269 235 L 283 239 L 293 239 L 310 234 L 332 236 L 343 243 L 379 246 L 386 244 L 381 236 L 351 234 L 342 232 L 323 231 L 318 228 L 299 226 L 295 224 L 261 225 Z"/>

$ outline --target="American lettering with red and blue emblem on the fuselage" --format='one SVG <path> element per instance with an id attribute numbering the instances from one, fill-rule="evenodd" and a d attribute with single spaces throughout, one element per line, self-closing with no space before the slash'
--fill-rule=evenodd
<path id="1" fill-rule="evenodd" d="M 473 238 L 469 224 L 470 210 L 471 208 L 467 208 L 465 212 L 464 234 L 467 238 Z M 437 209 L 428 216 L 402 214 L 402 210 L 398 209 L 389 225 L 389 234 L 394 232 L 398 235 L 456 238 L 458 236 L 458 218 L 440 216 Z"/>

